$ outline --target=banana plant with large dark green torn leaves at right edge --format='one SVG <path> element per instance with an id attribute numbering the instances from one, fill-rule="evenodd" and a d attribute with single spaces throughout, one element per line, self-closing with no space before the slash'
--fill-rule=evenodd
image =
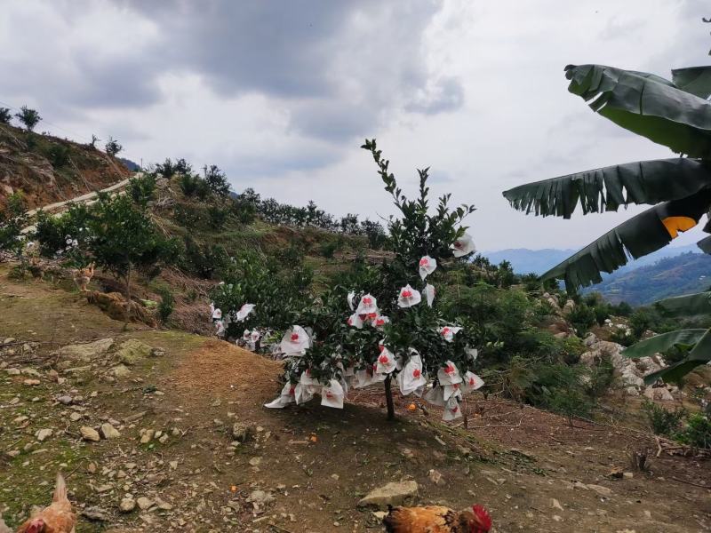
<path id="1" fill-rule="evenodd" d="M 577 290 L 601 282 L 601 273 L 613 272 L 630 258 L 663 248 L 711 209 L 711 67 L 672 70 L 671 81 L 603 65 L 569 65 L 565 76 L 571 81 L 568 91 L 585 99 L 595 113 L 677 155 L 544 179 L 504 192 L 519 211 L 564 219 L 571 218 L 578 204 L 583 214 L 617 211 L 630 203 L 651 205 L 541 276 L 542 281 L 562 279 L 566 289 Z M 711 233 L 711 221 L 704 231 Z M 700 241 L 699 248 L 711 253 L 711 237 Z M 683 298 L 659 305 L 698 314 L 707 296 Z M 628 355 L 640 357 L 664 346 L 693 346 L 682 362 L 651 375 L 650 381 L 678 379 L 711 361 L 711 330 L 674 333 L 628 348 Z"/>

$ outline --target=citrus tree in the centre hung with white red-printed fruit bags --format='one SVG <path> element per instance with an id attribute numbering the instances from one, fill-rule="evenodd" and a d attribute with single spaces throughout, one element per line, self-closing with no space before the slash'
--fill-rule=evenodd
<path id="1" fill-rule="evenodd" d="M 450 195 L 429 203 L 428 169 L 419 171 L 419 196 L 403 195 L 375 139 L 366 140 L 400 217 L 388 223 L 392 257 L 328 290 L 286 330 L 280 344 L 285 385 L 267 407 L 308 402 L 342 408 L 351 388 L 382 383 L 387 418 L 395 418 L 392 383 L 401 394 L 425 395 L 459 418 L 459 400 L 483 381 L 474 374 L 472 337 L 436 305 L 433 283 L 446 264 L 467 258 L 474 244 L 461 223 L 474 207 L 450 206 Z"/>

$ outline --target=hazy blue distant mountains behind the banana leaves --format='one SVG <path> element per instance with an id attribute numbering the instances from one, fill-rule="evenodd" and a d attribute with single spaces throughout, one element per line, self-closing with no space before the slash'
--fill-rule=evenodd
<path id="1" fill-rule="evenodd" d="M 510 261 L 519 274 L 543 274 L 567 259 L 575 250 L 527 250 L 524 248 L 482 252 L 491 263 Z M 632 260 L 612 274 L 603 274 L 595 290 L 613 303 L 649 304 L 660 298 L 707 290 L 711 286 L 711 256 L 700 253 L 696 244 L 667 247 Z"/>

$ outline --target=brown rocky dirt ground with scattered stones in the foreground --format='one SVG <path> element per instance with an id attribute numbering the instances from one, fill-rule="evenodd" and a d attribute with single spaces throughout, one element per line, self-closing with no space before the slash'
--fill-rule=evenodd
<path id="1" fill-rule="evenodd" d="M 711 465 L 657 457 L 629 414 L 638 398 L 611 398 L 609 420 L 575 426 L 481 396 L 468 428 L 400 399 L 387 423 L 378 390 L 342 411 L 266 410 L 279 364 L 236 346 L 124 330 L 78 294 L 1 268 L 0 308 L 10 525 L 49 502 L 61 470 L 79 533 L 378 531 L 382 506 L 398 501 L 480 503 L 499 533 L 711 530 Z"/>

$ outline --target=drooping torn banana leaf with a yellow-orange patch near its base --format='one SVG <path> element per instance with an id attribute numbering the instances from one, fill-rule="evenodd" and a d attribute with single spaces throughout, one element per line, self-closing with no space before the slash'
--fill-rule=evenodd
<path id="1" fill-rule="evenodd" d="M 551 268 L 541 281 L 563 279 L 568 290 L 602 282 L 601 272 L 611 273 L 627 265 L 628 257 L 638 259 L 670 243 L 677 234 L 675 227 L 667 226 L 669 220 L 688 220 L 690 224 L 681 229 L 689 229 L 707 211 L 709 203 L 711 191 L 703 189 L 688 198 L 655 205 Z"/>

